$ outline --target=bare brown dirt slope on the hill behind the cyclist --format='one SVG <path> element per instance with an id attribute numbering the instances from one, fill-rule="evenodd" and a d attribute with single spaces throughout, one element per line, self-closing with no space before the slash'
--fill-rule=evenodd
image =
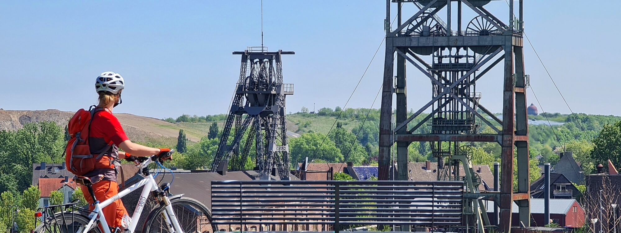
<path id="1" fill-rule="evenodd" d="M 17 130 L 24 124 L 38 121 L 54 121 L 65 126 L 74 112 L 64 112 L 57 109 L 37 111 L 16 111 L 0 109 L 0 130 Z M 138 142 L 176 143 L 179 129 L 183 129 L 189 140 L 197 142 L 207 134 L 204 129 L 183 126 L 152 117 L 136 116 L 127 113 L 116 113 L 116 116 L 127 136 Z"/>

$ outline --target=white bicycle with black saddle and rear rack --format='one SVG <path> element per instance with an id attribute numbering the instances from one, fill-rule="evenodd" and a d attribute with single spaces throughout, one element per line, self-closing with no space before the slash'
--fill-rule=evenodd
<path id="1" fill-rule="evenodd" d="M 140 159 L 140 161 L 137 162 L 137 166 L 140 167 L 140 171 L 142 171 L 142 174 L 145 175 L 145 179 L 129 186 L 123 191 L 120 191 L 119 194 L 112 196 L 110 199 L 99 202 L 93 198 L 95 200 L 93 211 L 78 207 L 77 201 L 69 204 L 40 208 L 39 212 L 37 212 L 35 216 L 42 217 L 44 220 L 41 224 L 39 224 L 39 226 L 37 226 L 34 232 L 121 233 L 119 228 L 111 229 L 111 227 L 108 227 L 106 218 L 103 217 L 101 209 L 105 208 L 113 201 L 138 190 L 142 186 L 145 186 L 145 188 L 143 188 L 140 199 L 138 199 L 134 214 L 132 214 L 130 220 L 126 219 L 129 221 L 129 224 L 127 224 L 129 227 L 127 227 L 123 232 L 135 232 L 138 222 L 144 220 L 141 219 L 140 216 L 145 208 L 145 204 L 147 204 L 147 199 L 150 196 L 149 194 L 152 194 L 152 199 L 155 201 L 155 205 L 143 224 L 143 233 L 213 232 L 211 231 L 211 211 L 209 211 L 204 204 L 200 203 L 196 199 L 184 197 L 183 194 L 170 196 L 168 193 L 170 184 L 168 183 L 158 186 L 158 183 L 155 181 L 156 175 L 150 174 L 148 169 L 148 165 L 151 163 L 156 163 L 156 165 L 160 168 L 164 168 L 158 157 L 153 155 L 151 157 L 138 157 L 138 159 Z M 97 177 L 96 180 L 91 180 L 85 176 L 76 176 L 73 178 L 73 181 L 86 186 L 91 196 L 94 197 L 92 185 L 100 179 L 101 177 Z M 56 212 L 58 209 L 60 209 L 60 212 Z"/>

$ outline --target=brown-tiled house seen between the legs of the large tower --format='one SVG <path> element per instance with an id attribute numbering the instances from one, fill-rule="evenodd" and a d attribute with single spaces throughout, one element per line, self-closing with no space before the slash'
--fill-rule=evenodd
<path id="1" fill-rule="evenodd" d="M 494 190 L 494 173 L 489 169 L 487 165 L 473 165 L 473 170 L 476 175 L 481 177 L 480 190 L 492 191 Z M 412 162 L 407 163 L 408 177 L 414 181 L 435 181 L 438 180 L 437 165 L 432 162 Z M 463 165 L 460 164 L 459 174 L 461 177 L 465 176 Z"/>

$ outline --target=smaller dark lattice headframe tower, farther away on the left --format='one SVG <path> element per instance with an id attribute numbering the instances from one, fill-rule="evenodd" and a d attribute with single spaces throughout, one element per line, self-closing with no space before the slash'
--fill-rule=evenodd
<path id="1" fill-rule="evenodd" d="M 294 52 L 268 52 L 267 47 L 249 47 L 233 54 L 242 55 L 242 65 L 211 170 L 222 161 L 230 162 L 231 170 L 243 170 L 254 154 L 254 169 L 260 173 L 261 180 L 270 180 L 274 167 L 281 180 L 289 180 L 285 97 L 293 94 L 293 85 L 283 83 L 281 55 Z M 232 141 L 229 140 L 231 133 Z"/>

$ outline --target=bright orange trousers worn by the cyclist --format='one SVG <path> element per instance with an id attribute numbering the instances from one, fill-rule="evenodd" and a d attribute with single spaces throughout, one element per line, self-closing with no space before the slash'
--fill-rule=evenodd
<path id="1" fill-rule="evenodd" d="M 101 203 L 102 201 L 106 201 L 119 193 L 119 184 L 115 181 L 102 180 L 93 184 L 93 191 L 97 201 Z M 82 194 L 84 194 L 84 198 L 86 198 L 86 201 L 89 203 L 89 209 L 92 211 L 95 208 L 95 206 L 91 205 L 94 201 L 93 198 L 91 198 L 91 194 L 89 194 L 88 190 L 86 190 L 86 187 L 82 189 Z M 127 209 L 125 209 L 123 202 L 120 199 L 117 199 L 103 208 L 102 212 L 104 217 L 106 217 L 108 226 L 121 227 L 121 222 L 123 221 L 123 216 L 127 214 Z"/>

